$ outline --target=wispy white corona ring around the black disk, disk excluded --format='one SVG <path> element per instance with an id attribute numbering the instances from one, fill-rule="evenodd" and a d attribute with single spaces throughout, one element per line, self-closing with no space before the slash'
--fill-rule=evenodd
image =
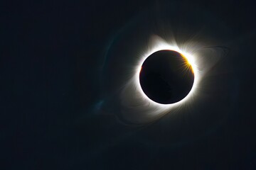
<path id="1" fill-rule="evenodd" d="M 185 98 L 176 103 L 161 104 L 152 101 L 144 94 L 139 83 L 139 73 L 144 60 L 159 50 L 174 50 L 181 53 L 193 69 L 194 82 L 192 89 Z M 138 55 L 138 62 L 134 66 L 132 79 L 127 82 L 122 91 L 122 115 L 133 123 L 147 123 L 160 118 L 166 113 L 174 113 L 177 109 L 191 105 L 199 92 L 203 75 L 217 62 L 218 56 L 220 56 L 219 52 L 216 52 L 213 48 L 203 47 L 197 42 L 186 42 L 177 45 L 175 40 L 167 42 L 158 36 L 154 36 L 151 38 L 147 49 Z"/>

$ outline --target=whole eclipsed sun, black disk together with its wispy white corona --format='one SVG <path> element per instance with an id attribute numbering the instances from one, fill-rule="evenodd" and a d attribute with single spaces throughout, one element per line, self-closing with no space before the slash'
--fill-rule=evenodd
<path id="1" fill-rule="evenodd" d="M 174 38 L 152 35 L 125 57 L 132 58 L 132 62 L 119 67 L 119 71 L 126 72 L 124 84 L 117 86 L 119 118 L 127 123 L 144 124 L 166 114 L 193 109 L 204 93 L 203 78 L 225 53 L 222 47 L 203 42 L 180 43 Z M 117 60 L 120 55 L 116 55 Z"/>

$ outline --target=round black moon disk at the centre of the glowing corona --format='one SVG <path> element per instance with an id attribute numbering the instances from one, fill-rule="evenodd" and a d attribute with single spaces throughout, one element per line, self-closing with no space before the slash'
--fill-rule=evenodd
<path id="1" fill-rule="evenodd" d="M 173 50 L 160 50 L 146 58 L 139 73 L 144 94 L 152 101 L 171 104 L 181 101 L 191 91 L 193 68 L 186 57 Z"/>

